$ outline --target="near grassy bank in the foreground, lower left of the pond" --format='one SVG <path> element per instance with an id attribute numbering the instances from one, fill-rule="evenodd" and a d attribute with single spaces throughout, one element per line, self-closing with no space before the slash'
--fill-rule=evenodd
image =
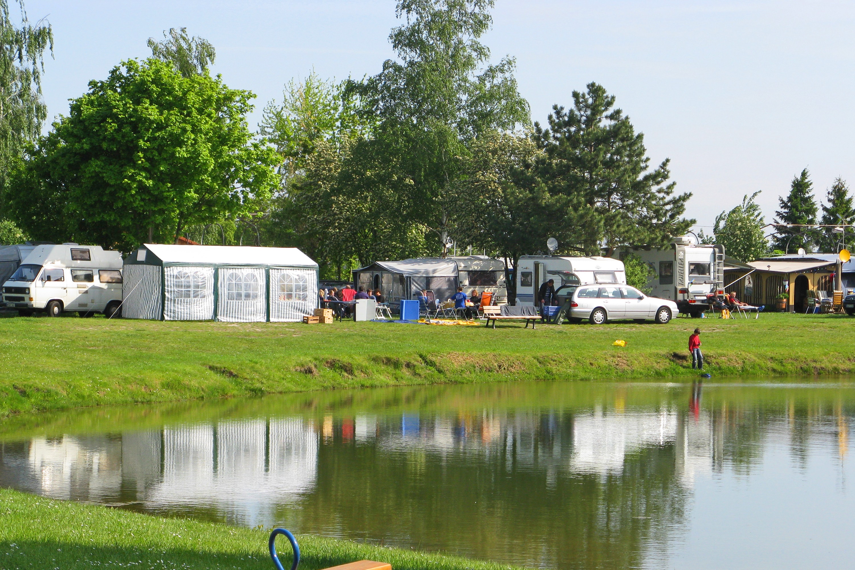
<path id="1" fill-rule="evenodd" d="M 268 531 L 192 520 L 162 519 L 114 508 L 55 501 L 0 490 L 0 567 L 240 568 L 273 567 Z M 277 543 L 291 565 L 286 539 Z M 301 570 L 369 559 L 394 570 L 510 570 L 457 556 L 388 549 L 351 541 L 299 536 Z"/>

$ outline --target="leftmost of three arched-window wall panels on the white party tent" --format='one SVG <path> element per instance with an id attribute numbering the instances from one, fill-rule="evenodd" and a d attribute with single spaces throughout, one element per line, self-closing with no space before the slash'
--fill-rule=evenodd
<path id="1" fill-rule="evenodd" d="M 163 267 L 164 320 L 214 318 L 214 267 Z"/>

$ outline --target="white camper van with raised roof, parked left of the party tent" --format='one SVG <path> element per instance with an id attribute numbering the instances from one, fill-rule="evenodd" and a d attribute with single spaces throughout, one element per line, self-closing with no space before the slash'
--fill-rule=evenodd
<path id="1" fill-rule="evenodd" d="M 98 245 L 38 245 L 3 284 L 3 303 L 21 315 L 109 316 L 121 303 L 121 253 Z"/>

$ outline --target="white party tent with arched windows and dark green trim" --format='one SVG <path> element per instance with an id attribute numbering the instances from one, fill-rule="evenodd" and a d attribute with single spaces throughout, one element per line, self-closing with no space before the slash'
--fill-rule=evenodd
<path id="1" fill-rule="evenodd" d="M 127 319 L 299 321 L 318 265 L 297 248 L 144 244 L 125 259 Z"/>

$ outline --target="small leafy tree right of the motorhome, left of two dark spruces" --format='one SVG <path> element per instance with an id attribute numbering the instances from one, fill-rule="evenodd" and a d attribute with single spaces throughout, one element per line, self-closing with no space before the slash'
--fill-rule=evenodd
<path id="1" fill-rule="evenodd" d="M 713 230 L 716 244 L 722 244 L 725 253 L 739 261 L 755 261 L 769 253 L 769 242 L 763 231 L 763 212 L 754 202 L 759 194 L 760 191 L 751 197 L 746 194 L 739 206 L 716 216 Z"/>

